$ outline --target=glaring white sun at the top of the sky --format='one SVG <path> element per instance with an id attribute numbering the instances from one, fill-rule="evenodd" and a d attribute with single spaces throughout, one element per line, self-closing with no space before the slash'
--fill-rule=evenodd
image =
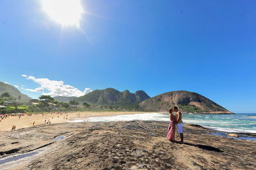
<path id="1" fill-rule="evenodd" d="M 80 0 L 42 0 L 44 11 L 62 26 L 79 26 L 83 13 Z"/>

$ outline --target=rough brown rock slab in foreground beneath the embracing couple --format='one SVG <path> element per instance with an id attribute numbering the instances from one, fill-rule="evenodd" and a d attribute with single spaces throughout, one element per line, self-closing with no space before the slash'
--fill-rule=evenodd
<path id="1" fill-rule="evenodd" d="M 256 142 L 184 125 L 184 144 L 166 121 L 58 123 L 0 132 L 0 169 L 255 169 Z M 176 134 L 179 139 L 179 134 Z M 17 154 L 33 156 L 13 160 Z M 8 162 L 9 161 L 9 162 Z"/>

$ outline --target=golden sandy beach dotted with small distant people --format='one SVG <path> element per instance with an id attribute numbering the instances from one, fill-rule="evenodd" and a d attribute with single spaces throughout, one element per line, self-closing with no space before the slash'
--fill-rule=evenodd
<path id="1" fill-rule="evenodd" d="M 7 118 L 1 119 L 0 122 L 0 132 L 1 131 L 10 131 L 12 126 L 15 125 L 16 129 L 32 127 L 33 122 L 35 121 L 35 125 L 43 125 L 48 121 L 51 121 L 51 124 L 54 123 L 64 123 L 67 121 L 72 120 L 87 120 L 90 117 L 95 116 L 113 116 L 113 115 L 120 115 L 120 114 L 139 114 L 145 112 L 52 112 L 52 113 L 45 113 L 42 116 L 42 113 L 32 114 L 28 116 L 25 114 L 24 116 L 8 116 Z"/>

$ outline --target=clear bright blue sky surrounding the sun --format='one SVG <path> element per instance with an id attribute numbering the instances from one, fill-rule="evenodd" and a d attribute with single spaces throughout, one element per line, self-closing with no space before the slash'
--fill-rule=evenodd
<path id="1" fill-rule="evenodd" d="M 81 92 L 182 89 L 256 112 L 255 1 L 81 3 L 77 29 L 51 20 L 40 1 L 2 0 L 0 81 L 33 98 L 42 93 L 26 89 L 42 88 L 40 78 Z"/>

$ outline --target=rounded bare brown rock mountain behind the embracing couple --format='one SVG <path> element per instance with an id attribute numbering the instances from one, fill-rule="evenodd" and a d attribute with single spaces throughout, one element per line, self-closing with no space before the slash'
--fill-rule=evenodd
<path id="1" fill-rule="evenodd" d="M 232 113 L 198 93 L 190 91 L 170 91 L 141 102 L 140 107 L 158 112 L 167 112 L 177 106 L 182 112 Z"/>

